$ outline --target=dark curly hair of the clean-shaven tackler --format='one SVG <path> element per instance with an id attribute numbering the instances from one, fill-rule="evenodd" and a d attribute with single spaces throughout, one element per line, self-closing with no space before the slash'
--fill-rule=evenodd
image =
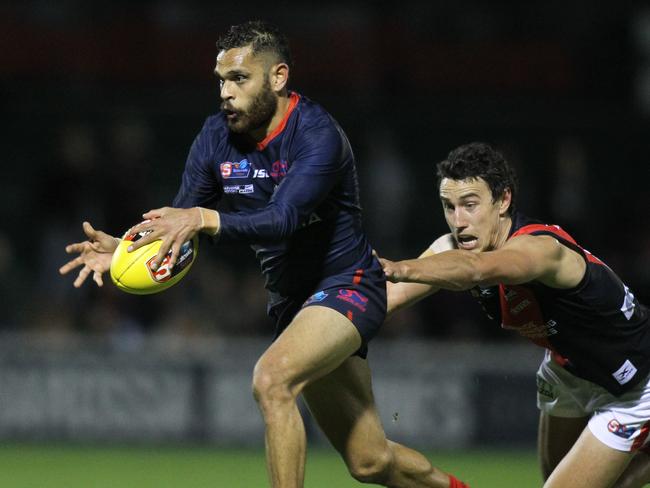
<path id="1" fill-rule="evenodd" d="M 490 188 L 492 201 L 503 195 L 506 188 L 512 194 L 508 213 L 515 209 L 517 175 L 503 155 L 483 142 L 472 142 L 453 149 L 447 159 L 437 166 L 438 188 L 443 178 L 466 180 L 482 178 Z"/>

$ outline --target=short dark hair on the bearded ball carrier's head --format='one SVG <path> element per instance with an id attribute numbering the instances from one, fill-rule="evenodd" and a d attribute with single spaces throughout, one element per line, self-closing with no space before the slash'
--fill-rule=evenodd
<path id="1" fill-rule="evenodd" d="M 253 54 L 273 53 L 279 62 L 286 63 L 289 67 L 293 64 L 287 37 L 276 26 L 262 20 L 249 20 L 233 25 L 217 41 L 219 51 L 249 45 Z"/>

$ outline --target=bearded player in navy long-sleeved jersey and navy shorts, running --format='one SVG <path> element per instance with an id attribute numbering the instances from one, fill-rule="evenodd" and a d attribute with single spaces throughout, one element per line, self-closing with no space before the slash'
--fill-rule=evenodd
<path id="1" fill-rule="evenodd" d="M 287 89 L 290 54 L 277 29 L 233 26 L 218 47 L 222 110 L 192 145 L 174 207 L 144 214 L 148 222 L 132 232 L 151 233 L 133 249 L 161 239 L 158 262 L 169 249 L 173 262 L 198 232 L 254 248 L 277 333 L 253 374 L 272 486 L 303 486 L 302 394 L 358 480 L 464 487 L 382 428 L 365 354 L 384 320 L 386 282 L 361 228 L 345 134 L 322 107 Z M 216 211 L 217 202 L 227 208 Z M 68 246 L 80 256 L 61 272 L 82 266 L 75 286 L 91 274 L 101 285 L 115 240 L 88 223 L 84 230 L 89 241 Z"/>

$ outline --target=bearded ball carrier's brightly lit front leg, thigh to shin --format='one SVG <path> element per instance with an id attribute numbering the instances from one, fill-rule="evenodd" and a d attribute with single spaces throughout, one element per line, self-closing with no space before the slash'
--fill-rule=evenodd
<path id="1" fill-rule="evenodd" d="M 305 385 L 336 369 L 361 345 L 338 312 L 301 310 L 255 366 L 253 389 L 266 426 L 266 456 L 274 488 L 302 488 L 305 428 L 296 400 Z"/>

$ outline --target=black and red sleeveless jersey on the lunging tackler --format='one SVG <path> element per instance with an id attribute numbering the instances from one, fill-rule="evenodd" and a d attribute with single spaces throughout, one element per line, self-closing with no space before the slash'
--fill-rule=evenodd
<path id="1" fill-rule="evenodd" d="M 650 373 L 647 308 L 600 259 L 556 225 L 515 213 L 510 236 L 550 235 L 580 254 L 585 275 L 571 289 L 538 282 L 475 288 L 472 294 L 502 327 L 550 349 L 568 371 L 614 395 Z"/>

